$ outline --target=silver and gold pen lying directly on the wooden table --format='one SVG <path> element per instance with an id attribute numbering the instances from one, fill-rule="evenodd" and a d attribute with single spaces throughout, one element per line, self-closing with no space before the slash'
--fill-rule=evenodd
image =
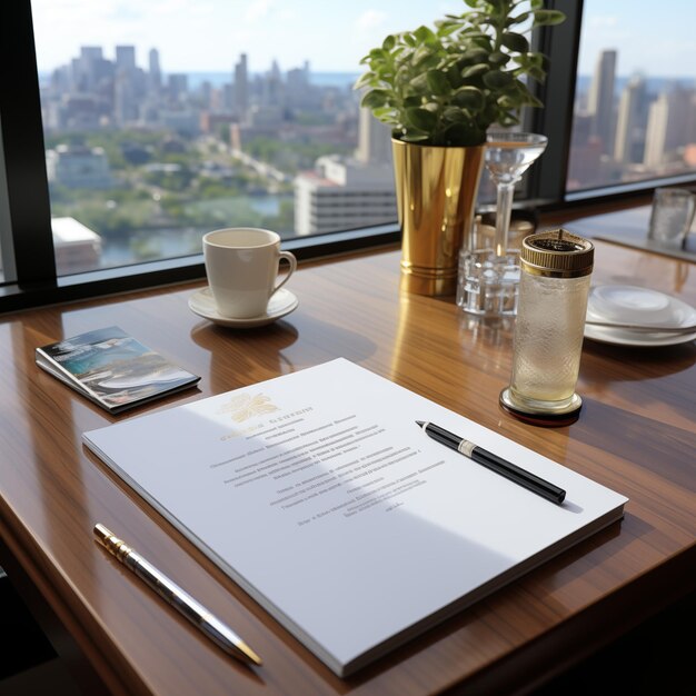
<path id="1" fill-rule="evenodd" d="M 160 573 L 140 554 L 126 546 L 103 525 L 95 525 L 97 540 L 126 567 L 145 580 L 160 597 L 180 612 L 195 626 L 198 626 L 215 644 L 226 653 L 247 664 L 260 665 L 259 656 L 228 626 L 216 618 L 206 607 Z"/>

